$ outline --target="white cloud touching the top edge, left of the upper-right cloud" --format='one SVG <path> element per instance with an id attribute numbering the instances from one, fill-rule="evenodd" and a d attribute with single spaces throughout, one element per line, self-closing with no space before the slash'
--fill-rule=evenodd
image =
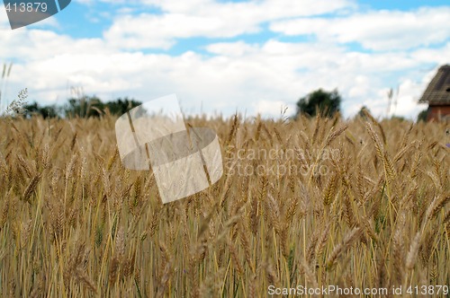
<path id="1" fill-rule="evenodd" d="M 229 38 L 261 30 L 261 23 L 299 15 L 331 13 L 351 5 L 347 0 L 266 0 L 244 3 L 147 1 L 163 14 L 126 14 L 116 18 L 104 33 L 118 48 L 170 48 L 175 39 Z"/>

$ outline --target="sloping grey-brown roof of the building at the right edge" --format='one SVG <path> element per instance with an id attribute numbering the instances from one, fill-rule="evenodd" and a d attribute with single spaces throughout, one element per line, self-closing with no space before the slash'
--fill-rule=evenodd
<path id="1" fill-rule="evenodd" d="M 430 105 L 450 104 L 450 65 L 439 67 L 419 102 L 428 102 Z"/>

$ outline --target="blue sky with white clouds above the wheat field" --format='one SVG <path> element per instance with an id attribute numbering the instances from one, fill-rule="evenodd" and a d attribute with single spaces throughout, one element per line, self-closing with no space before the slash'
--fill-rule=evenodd
<path id="1" fill-rule="evenodd" d="M 0 9 L 0 64 L 11 101 L 62 104 L 83 92 L 148 101 L 176 93 L 185 113 L 277 117 L 318 88 L 344 115 L 363 105 L 415 118 L 437 67 L 450 63 L 448 1 L 73 0 L 12 31 Z"/>

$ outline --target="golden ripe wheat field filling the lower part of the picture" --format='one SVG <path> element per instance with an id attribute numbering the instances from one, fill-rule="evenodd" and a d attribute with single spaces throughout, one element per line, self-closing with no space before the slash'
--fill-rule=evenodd
<path id="1" fill-rule="evenodd" d="M 2 297 L 450 285 L 444 123 L 188 118 L 224 175 L 163 205 L 121 165 L 115 119 L 0 118 Z"/>

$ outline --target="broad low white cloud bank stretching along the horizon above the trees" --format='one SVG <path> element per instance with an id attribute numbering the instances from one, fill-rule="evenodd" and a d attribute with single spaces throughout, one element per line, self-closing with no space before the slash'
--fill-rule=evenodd
<path id="1" fill-rule="evenodd" d="M 39 40 L 49 39 L 41 31 L 32 34 L 36 45 Z M 260 112 L 277 117 L 282 105 L 290 106 L 289 112 L 293 113 L 295 101 L 307 92 L 338 87 L 347 116 L 356 113 L 362 104 L 375 115 L 384 115 L 386 88 L 391 87 L 384 83 L 383 75 L 387 75 L 384 72 L 421 65 L 412 61 L 391 68 L 384 65 L 394 60 L 389 53 L 377 55 L 374 60 L 379 62 L 374 63 L 370 57 L 361 58 L 361 54 L 347 53 L 343 48 L 276 40 L 260 47 L 243 42 L 211 45 L 210 48 L 221 49 L 221 54 L 215 57 L 193 52 L 170 57 L 111 52 L 105 47 L 98 47 L 95 52 L 77 52 L 89 42 L 98 41 L 51 37 L 55 47 L 47 49 L 45 56 L 43 49 L 36 46 L 40 52 L 28 52 L 30 61 L 14 66 L 13 85 L 29 86 L 32 96 L 46 100 L 65 98 L 67 83 L 83 86 L 86 93 L 95 93 L 106 100 L 129 95 L 147 101 L 176 92 L 189 113 L 199 112 L 202 107 L 209 113 L 221 111 L 230 115 L 238 110 L 247 115 Z M 71 49 L 64 46 L 66 43 Z M 398 55 L 399 60 L 410 61 L 407 53 Z M 416 100 L 426 83 L 401 85 L 398 111 L 402 115 L 414 117 L 419 111 Z"/>

